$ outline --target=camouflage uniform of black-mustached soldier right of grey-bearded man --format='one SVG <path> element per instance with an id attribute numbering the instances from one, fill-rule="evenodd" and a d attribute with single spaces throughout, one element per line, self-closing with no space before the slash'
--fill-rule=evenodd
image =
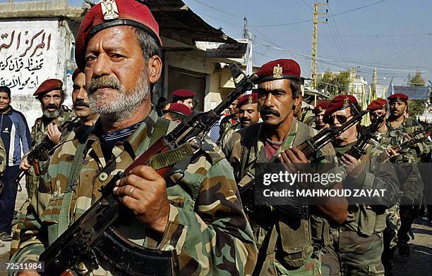
<path id="1" fill-rule="evenodd" d="M 225 155 L 234 168 L 236 181 L 240 186 L 247 184 L 252 179 L 250 175 L 255 175 L 256 163 L 268 163 L 274 160 L 281 151 L 288 149 L 293 144 L 301 144 L 316 134 L 316 130 L 293 118 L 284 141 L 272 160 L 269 161 L 265 156 L 263 131 L 263 123 L 245 127 L 235 132 L 224 148 Z M 247 159 L 244 160 L 244 158 Z M 311 162 L 337 165 L 334 149 L 328 144 L 320 149 L 316 156 L 313 156 Z M 257 206 L 257 209 L 260 209 L 259 212 L 249 214 L 258 247 L 267 250 L 265 253 L 260 250 L 263 258 L 260 259 L 258 255 L 254 273 L 262 271 L 261 275 L 321 275 L 319 249 L 325 243 L 330 244 L 330 229 L 318 225 L 322 221 L 316 215 L 304 220 L 290 215 L 281 215 L 274 210 L 261 207 Z M 317 231 L 317 229 L 321 230 Z M 273 235 L 275 236 L 272 237 Z M 263 272 L 266 270 L 267 263 L 268 270 Z"/>

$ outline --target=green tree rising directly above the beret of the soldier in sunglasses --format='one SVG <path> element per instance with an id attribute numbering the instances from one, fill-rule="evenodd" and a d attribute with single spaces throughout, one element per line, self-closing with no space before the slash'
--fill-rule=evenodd
<path id="1" fill-rule="evenodd" d="M 331 96 L 348 93 L 349 89 L 349 71 L 340 73 L 325 72 L 323 77 L 318 77 L 318 91 L 324 90 Z"/>

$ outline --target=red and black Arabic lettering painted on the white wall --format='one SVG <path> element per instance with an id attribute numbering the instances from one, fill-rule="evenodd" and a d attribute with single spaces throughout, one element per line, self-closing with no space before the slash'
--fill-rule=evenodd
<path id="1" fill-rule="evenodd" d="M 56 75 L 56 21 L 0 22 L 0 85 L 32 94 Z"/>

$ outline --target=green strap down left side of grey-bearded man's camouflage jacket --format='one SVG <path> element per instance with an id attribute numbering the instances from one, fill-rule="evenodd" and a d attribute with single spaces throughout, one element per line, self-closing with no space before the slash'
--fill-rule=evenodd
<path id="1" fill-rule="evenodd" d="M 78 139 L 78 146 L 76 148 L 75 156 L 73 156 L 73 164 L 68 174 L 68 185 L 64 192 L 63 201 L 61 201 L 61 208 L 59 213 L 59 225 L 57 234 L 59 237 L 69 226 L 70 218 L 69 211 L 71 209 L 72 194 L 76 190 L 76 186 L 80 177 L 80 170 L 83 166 L 85 158 L 85 147 L 87 146 L 87 138 L 92 132 L 93 127 L 87 127 L 83 135 Z"/>

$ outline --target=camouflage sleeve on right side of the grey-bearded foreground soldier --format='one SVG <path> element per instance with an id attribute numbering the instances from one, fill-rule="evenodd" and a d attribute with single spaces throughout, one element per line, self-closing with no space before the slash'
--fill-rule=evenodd
<path id="1" fill-rule="evenodd" d="M 212 165 L 198 192 L 195 208 L 171 206 L 160 248 L 174 246 L 181 275 L 248 275 L 257 249 L 229 163 Z"/>

